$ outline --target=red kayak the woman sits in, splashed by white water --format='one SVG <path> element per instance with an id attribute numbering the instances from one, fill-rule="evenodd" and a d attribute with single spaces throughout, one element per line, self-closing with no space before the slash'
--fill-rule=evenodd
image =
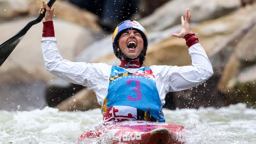
<path id="1" fill-rule="evenodd" d="M 112 144 L 185 144 L 180 134 L 182 129 L 184 126 L 163 122 L 117 122 L 85 131 L 78 143 L 94 142 L 104 135 L 112 135 Z"/>

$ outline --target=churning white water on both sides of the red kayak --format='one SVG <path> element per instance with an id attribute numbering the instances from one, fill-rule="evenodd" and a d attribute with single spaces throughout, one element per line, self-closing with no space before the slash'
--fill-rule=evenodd
<path id="1" fill-rule="evenodd" d="M 182 124 L 187 144 L 256 144 L 256 109 L 245 104 L 220 109 L 163 110 L 166 122 Z M 100 109 L 61 112 L 0 111 L 0 144 L 75 144 L 78 136 L 102 121 Z"/>

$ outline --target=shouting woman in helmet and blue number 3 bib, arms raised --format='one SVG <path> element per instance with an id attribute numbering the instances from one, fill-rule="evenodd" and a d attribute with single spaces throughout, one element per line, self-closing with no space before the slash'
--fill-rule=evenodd
<path id="1" fill-rule="evenodd" d="M 206 52 L 191 31 L 189 9 L 186 9 L 185 20 L 181 17 L 180 33 L 172 36 L 186 40 L 192 66 L 144 67 L 148 37 L 139 22 L 121 22 L 113 33 L 113 51 L 121 60 L 120 66 L 75 63 L 62 59 L 59 54 L 52 22 L 54 8 L 45 3 L 43 7 L 46 15 L 41 42 L 46 69 L 59 78 L 93 89 L 102 105 L 105 124 L 125 120 L 165 122 L 162 107 L 167 92 L 189 89 L 213 74 Z M 43 7 L 40 13 L 44 12 Z"/>

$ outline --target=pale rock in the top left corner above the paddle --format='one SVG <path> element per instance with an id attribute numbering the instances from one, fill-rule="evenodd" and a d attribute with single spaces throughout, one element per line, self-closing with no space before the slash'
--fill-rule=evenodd
<path id="1" fill-rule="evenodd" d="M 0 0 L 0 19 L 14 18 L 29 11 L 31 0 Z"/>

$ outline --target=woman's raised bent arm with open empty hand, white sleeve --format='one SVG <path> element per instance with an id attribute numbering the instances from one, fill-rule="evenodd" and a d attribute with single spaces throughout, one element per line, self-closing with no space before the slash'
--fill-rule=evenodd
<path id="1" fill-rule="evenodd" d="M 174 33 L 172 36 L 184 38 L 189 47 L 189 54 L 192 59 L 192 66 L 152 66 L 158 74 L 157 78 L 161 83 L 159 87 L 163 87 L 165 93 L 180 91 L 194 87 L 213 75 L 211 63 L 199 44 L 198 38 L 192 32 L 189 25 L 190 12 L 186 9 L 186 18 L 181 17 L 182 29 L 180 33 Z M 168 83 L 168 85 L 166 85 Z"/>

